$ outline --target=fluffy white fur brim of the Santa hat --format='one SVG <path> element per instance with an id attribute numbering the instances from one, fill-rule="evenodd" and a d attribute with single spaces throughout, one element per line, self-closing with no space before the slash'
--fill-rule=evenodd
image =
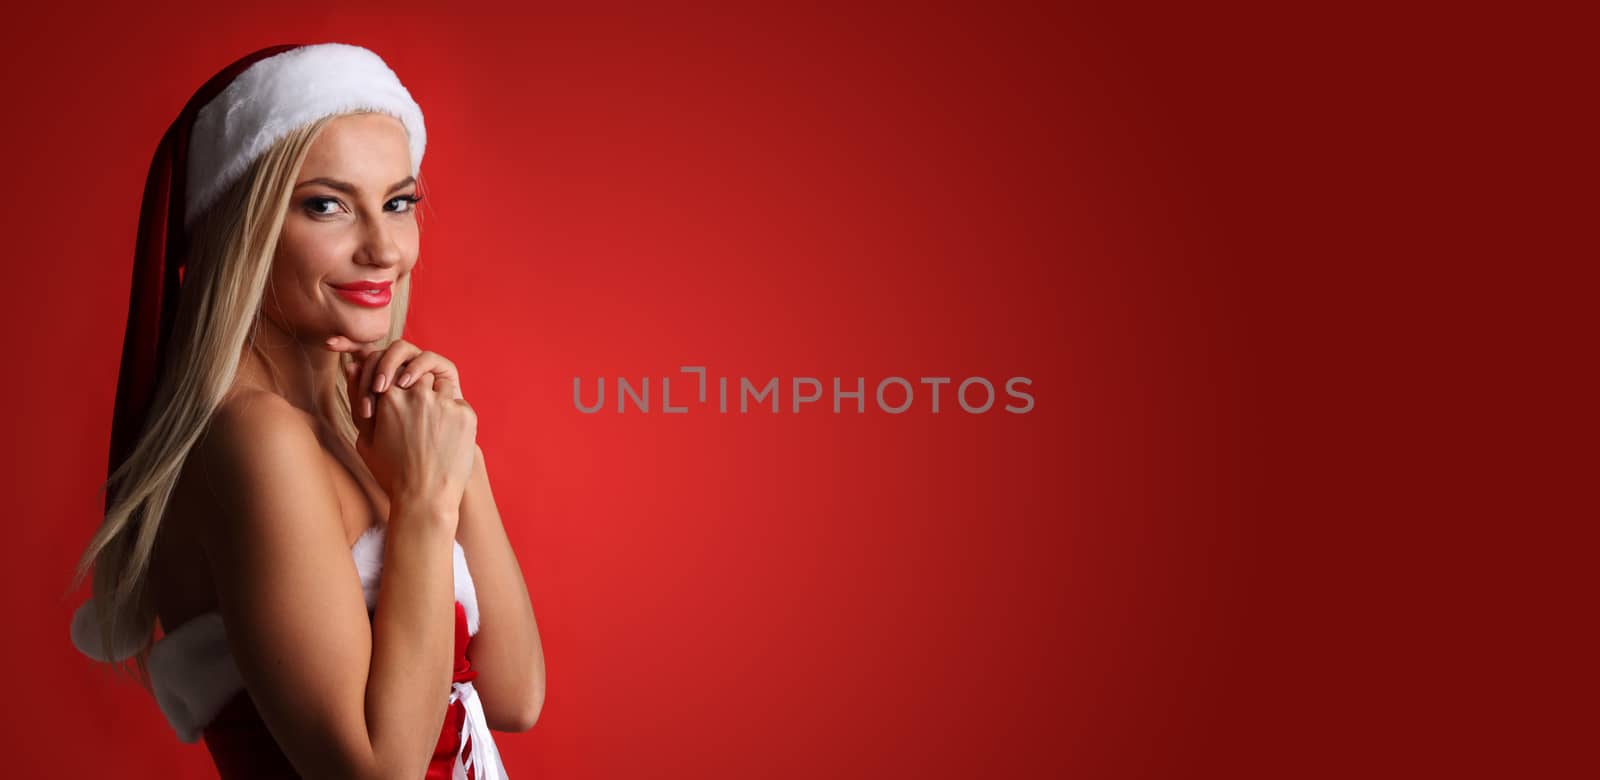
<path id="1" fill-rule="evenodd" d="M 184 227 L 291 129 L 354 110 L 389 113 L 405 125 L 416 176 L 427 147 L 422 109 L 382 58 L 349 43 L 317 43 L 251 64 L 195 115 Z"/>

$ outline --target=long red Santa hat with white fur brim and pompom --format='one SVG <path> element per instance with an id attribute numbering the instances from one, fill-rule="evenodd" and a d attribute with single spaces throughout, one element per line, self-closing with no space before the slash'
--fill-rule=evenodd
<path id="1" fill-rule="evenodd" d="M 357 110 L 400 120 L 416 176 L 427 145 L 422 109 L 382 58 L 347 43 L 253 51 L 206 80 L 166 128 L 144 181 L 107 478 L 144 433 L 178 312 L 189 230 L 278 139 L 318 118 Z M 112 497 L 107 491 L 107 511 Z M 80 607 L 75 628 L 86 627 L 88 609 L 91 603 Z M 120 636 L 112 647 L 101 647 L 90 631 L 74 630 L 74 643 L 85 654 L 112 660 L 131 655 L 144 636 Z"/>

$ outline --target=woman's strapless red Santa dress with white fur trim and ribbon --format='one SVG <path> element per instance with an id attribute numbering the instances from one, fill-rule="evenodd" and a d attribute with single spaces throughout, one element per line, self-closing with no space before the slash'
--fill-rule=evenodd
<path id="1" fill-rule="evenodd" d="M 378 607 L 384 561 L 384 526 L 366 529 L 350 548 L 362 579 L 368 619 Z M 450 708 L 440 726 L 438 743 L 429 761 L 426 780 L 491 778 L 504 780 L 506 767 L 494 746 L 494 735 L 483 716 L 472 681 L 478 671 L 467 655 L 478 633 L 478 599 L 461 543 L 454 543 L 456 641 L 451 667 Z M 125 647 L 101 647 L 94 628 L 93 599 L 72 617 L 72 643 L 96 660 L 131 655 Z M 256 711 L 243 678 L 227 647 L 222 615 L 206 612 L 165 633 L 149 659 L 150 687 L 181 742 L 205 738 L 222 780 L 298 777 Z"/>

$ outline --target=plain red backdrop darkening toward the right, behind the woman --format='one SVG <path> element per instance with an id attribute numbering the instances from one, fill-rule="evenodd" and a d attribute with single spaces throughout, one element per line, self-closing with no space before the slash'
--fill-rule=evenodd
<path id="1" fill-rule="evenodd" d="M 1563 257 L 1528 225 L 1594 219 L 1534 182 L 1592 145 L 1573 21 L 173 6 L 0 32 L 8 774 L 214 777 L 75 654 L 66 585 L 150 153 L 226 62 L 325 40 L 427 113 L 408 336 L 462 369 L 549 663 L 512 777 L 1592 754 L 1592 545 L 1547 543 L 1594 516 L 1552 489 L 1592 446 L 1533 438 L 1576 430 L 1594 288 L 1517 272 Z M 1035 408 L 573 408 L 573 377 L 683 364 L 786 408 L 795 376 L 1026 376 Z"/>

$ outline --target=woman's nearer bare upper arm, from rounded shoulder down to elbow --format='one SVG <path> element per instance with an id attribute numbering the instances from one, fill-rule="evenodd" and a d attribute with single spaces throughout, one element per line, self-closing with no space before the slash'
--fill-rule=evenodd
<path id="1" fill-rule="evenodd" d="M 245 392 L 197 448 L 221 505 L 198 535 L 245 686 L 296 769 L 347 777 L 370 745 L 371 625 L 317 432 L 286 400 Z"/>

